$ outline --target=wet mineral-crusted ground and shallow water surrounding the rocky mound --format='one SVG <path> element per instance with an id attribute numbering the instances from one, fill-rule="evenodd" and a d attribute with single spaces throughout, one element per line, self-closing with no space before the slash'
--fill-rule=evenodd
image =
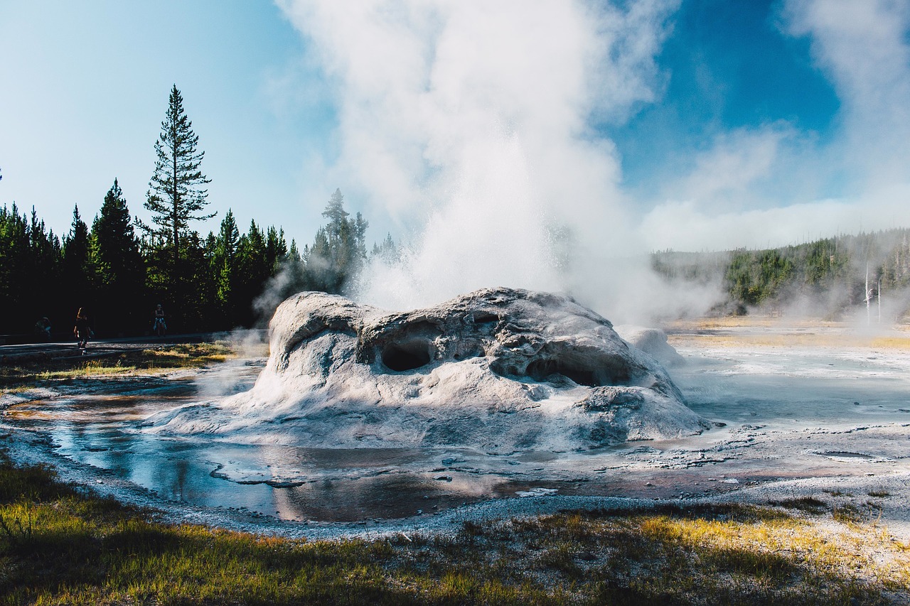
<path id="1" fill-rule="evenodd" d="M 501 498 L 556 507 L 567 502 L 556 497 L 705 500 L 808 487 L 857 502 L 887 493 L 877 505 L 895 528 L 910 529 L 900 492 L 910 479 L 910 352 L 717 346 L 695 331 L 671 343 L 686 359 L 671 369 L 673 379 L 717 427 L 583 453 L 306 449 L 143 430 L 142 419 L 159 410 L 248 389 L 261 359 L 123 381 L 114 392 L 93 383 L 46 398 L 10 394 L 3 422 L 29 432 L 54 460 L 88 477 L 103 472 L 98 483 L 145 490 L 148 504 L 276 521 L 424 520 Z"/>

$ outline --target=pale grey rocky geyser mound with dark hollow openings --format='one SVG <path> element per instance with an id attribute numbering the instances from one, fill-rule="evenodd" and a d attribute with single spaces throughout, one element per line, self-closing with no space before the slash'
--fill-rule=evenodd
<path id="1" fill-rule="evenodd" d="M 591 449 L 709 427 L 662 367 L 561 295 L 483 289 L 407 313 L 288 298 L 256 386 L 152 430 L 311 447 Z"/>

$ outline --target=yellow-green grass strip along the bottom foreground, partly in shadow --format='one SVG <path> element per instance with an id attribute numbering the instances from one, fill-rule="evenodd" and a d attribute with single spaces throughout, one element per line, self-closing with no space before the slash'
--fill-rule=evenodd
<path id="1" fill-rule="evenodd" d="M 0 517 L 3 604 L 878 604 L 910 591 L 910 546 L 770 508 L 308 542 L 156 523 L 0 454 Z"/>

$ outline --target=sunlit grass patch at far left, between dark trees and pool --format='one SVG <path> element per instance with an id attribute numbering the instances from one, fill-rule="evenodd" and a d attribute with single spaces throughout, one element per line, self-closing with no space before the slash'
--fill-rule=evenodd
<path id="1" fill-rule="evenodd" d="M 103 359 L 51 358 L 0 367 L 0 387 L 27 389 L 48 381 L 146 375 L 198 369 L 236 357 L 227 341 L 186 343 L 125 351 Z"/>

